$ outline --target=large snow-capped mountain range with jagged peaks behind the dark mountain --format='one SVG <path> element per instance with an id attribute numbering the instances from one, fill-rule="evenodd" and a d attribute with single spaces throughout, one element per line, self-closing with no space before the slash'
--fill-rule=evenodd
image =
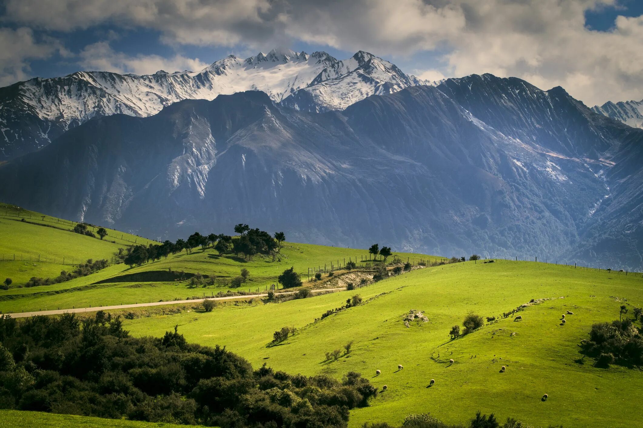
<path id="1" fill-rule="evenodd" d="M 0 160 L 46 146 L 92 117 L 119 113 L 147 117 L 182 99 L 212 100 L 221 94 L 261 90 L 289 107 L 327 111 L 372 94 L 428 83 L 363 51 L 337 60 L 325 52 L 308 55 L 289 49 L 246 59 L 230 55 L 197 72 L 138 76 L 89 71 L 34 78 L 0 88 Z M 300 91 L 305 93 L 299 95 Z"/>

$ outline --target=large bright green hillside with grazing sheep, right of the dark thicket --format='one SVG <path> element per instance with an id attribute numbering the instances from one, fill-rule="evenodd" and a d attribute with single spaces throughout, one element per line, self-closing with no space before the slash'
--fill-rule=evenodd
<path id="1" fill-rule="evenodd" d="M 312 323 L 355 293 L 373 299 Z M 521 311 L 523 321 L 487 323 L 449 340 L 450 327 L 460 324 L 467 312 L 498 316 L 532 298 L 552 300 Z M 577 346 L 593 323 L 617 319 L 622 302 L 643 305 L 640 274 L 534 262 L 466 262 L 413 271 L 359 291 L 141 318 L 127 321 L 125 327 L 135 335 L 161 336 L 178 323 L 188 341 L 226 345 L 255 367 L 265 362 L 276 370 L 306 375 L 341 377 L 349 370 L 372 375 L 374 384 L 388 389 L 370 407 L 352 412 L 352 427 L 366 421 L 399 424 L 404 416 L 419 412 L 464 422 L 478 409 L 534 425 L 629 427 L 641 407 L 624 391 L 643 388 L 643 373 L 617 366 L 594 368 Z M 404 327 L 402 316 L 410 309 L 423 311 L 429 321 Z M 560 315 L 567 310 L 574 315 L 561 326 Z M 284 325 L 300 330 L 267 347 L 272 332 Z M 325 352 L 351 340 L 349 355 L 324 361 Z M 404 369 L 398 371 L 397 364 Z M 499 373 L 502 365 L 507 372 Z M 376 377 L 378 369 L 382 374 Z M 428 388 L 430 379 L 436 383 Z M 544 393 L 547 402 L 540 400 Z"/>

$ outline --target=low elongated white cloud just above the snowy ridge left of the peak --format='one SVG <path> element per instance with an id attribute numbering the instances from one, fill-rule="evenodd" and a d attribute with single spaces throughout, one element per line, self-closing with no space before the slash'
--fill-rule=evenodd
<path id="1" fill-rule="evenodd" d="M 80 53 L 78 63 L 86 70 L 112 71 L 120 74 L 152 74 L 159 70 L 165 70 L 168 73 L 184 70 L 201 71 L 208 66 L 199 58 L 186 58 L 182 55 L 174 55 L 170 58 L 159 55 L 125 55 L 114 51 L 109 46 L 109 42 L 87 45 Z"/>

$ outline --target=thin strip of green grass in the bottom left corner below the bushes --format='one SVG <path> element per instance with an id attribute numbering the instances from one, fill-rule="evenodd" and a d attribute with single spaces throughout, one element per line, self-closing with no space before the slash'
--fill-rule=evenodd
<path id="1" fill-rule="evenodd" d="M 197 427 L 197 425 L 192 425 Z M 88 416 L 55 415 L 53 413 L 0 410 L 0 428 L 19 427 L 86 427 L 86 428 L 179 428 L 185 425 L 163 422 L 91 418 Z M 198 427 L 197 427 L 198 428 Z"/>

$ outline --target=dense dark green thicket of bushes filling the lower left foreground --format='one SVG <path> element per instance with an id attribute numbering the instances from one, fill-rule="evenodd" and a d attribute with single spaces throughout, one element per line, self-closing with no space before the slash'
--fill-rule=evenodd
<path id="1" fill-rule="evenodd" d="M 222 428 L 346 427 L 377 393 L 349 372 L 338 381 L 253 371 L 222 347 L 182 334 L 133 338 L 104 312 L 79 320 L 0 318 L 0 407 Z"/>

